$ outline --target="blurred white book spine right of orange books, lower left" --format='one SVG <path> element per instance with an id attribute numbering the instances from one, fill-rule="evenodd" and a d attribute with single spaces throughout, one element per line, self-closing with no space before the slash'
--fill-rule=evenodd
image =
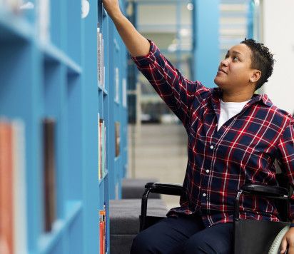
<path id="1" fill-rule="evenodd" d="M 13 128 L 13 197 L 14 197 L 14 253 L 26 254 L 26 156 L 25 126 L 21 120 L 12 121 Z"/>

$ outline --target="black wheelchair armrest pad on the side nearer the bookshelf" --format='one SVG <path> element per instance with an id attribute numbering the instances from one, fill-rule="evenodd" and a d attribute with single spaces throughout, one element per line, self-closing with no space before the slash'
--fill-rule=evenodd
<path id="1" fill-rule="evenodd" d="M 179 183 L 146 183 L 145 189 L 151 193 L 166 195 L 181 195 L 183 185 Z"/>

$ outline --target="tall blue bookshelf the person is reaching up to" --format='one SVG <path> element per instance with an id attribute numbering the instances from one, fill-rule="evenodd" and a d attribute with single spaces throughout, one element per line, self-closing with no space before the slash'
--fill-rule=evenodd
<path id="1" fill-rule="evenodd" d="M 0 6 L 0 117 L 25 126 L 26 250 L 99 253 L 99 210 L 121 198 L 127 168 L 127 51 L 101 1 L 51 0 L 49 39 L 39 36 L 41 1 L 21 12 Z M 120 1 L 125 11 L 124 1 Z M 104 45 L 104 84 L 97 78 L 97 24 Z M 106 170 L 98 179 L 98 114 L 106 126 Z M 42 121 L 54 118 L 56 218 L 44 230 Z M 119 154 L 116 153 L 116 125 Z"/>

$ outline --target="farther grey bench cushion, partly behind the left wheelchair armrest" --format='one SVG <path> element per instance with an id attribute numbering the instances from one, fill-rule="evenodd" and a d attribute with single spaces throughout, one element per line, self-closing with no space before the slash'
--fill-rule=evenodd
<path id="1" fill-rule="evenodd" d="M 146 183 L 158 182 L 156 178 L 124 178 L 121 184 L 121 198 L 142 198 Z M 149 198 L 161 198 L 159 193 L 150 193 Z"/>

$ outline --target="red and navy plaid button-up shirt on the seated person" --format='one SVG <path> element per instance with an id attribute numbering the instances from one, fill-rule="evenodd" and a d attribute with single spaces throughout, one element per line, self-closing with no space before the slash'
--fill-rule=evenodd
<path id="1" fill-rule="evenodd" d="M 188 133 L 181 207 L 172 208 L 168 216 L 198 213 L 206 227 L 233 221 L 233 200 L 243 184 L 278 185 L 275 159 L 293 185 L 294 118 L 290 113 L 274 106 L 267 95 L 254 94 L 218 130 L 222 90 L 184 78 L 150 43 L 146 56 L 132 59 Z M 289 216 L 294 218 L 294 205 Z M 278 221 L 278 213 L 273 200 L 241 195 L 240 218 Z"/>

